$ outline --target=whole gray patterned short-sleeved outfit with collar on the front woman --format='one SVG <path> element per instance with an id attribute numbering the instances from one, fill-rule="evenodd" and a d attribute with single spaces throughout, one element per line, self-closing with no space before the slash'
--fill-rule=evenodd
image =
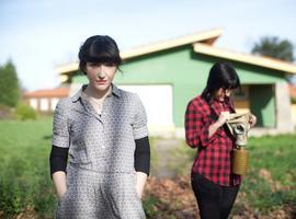
<path id="1" fill-rule="evenodd" d="M 57 218 L 145 218 L 136 193 L 135 139 L 148 136 L 138 95 L 112 85 L 102 114 L 82 96 L 59 101 L 54 115 L 53 145 L 69 148 L 67 192 Z"/>

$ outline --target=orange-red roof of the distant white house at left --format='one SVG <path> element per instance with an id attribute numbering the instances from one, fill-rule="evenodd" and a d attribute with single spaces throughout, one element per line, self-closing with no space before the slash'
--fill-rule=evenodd
<path id="1" fill-rule="evenodd" d="M 67 97 L 70 94 L 70 89 L 67 87 L 60 87 L 56 89 L 38 90 L 33 92 L 26 92 L 24 97 Z"/>

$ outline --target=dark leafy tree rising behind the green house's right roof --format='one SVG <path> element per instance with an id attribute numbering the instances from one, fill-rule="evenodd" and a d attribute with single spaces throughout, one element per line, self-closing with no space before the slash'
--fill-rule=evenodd
<path id="1" fill-rule="evenodd" d="M 252 54 L 260 54 L 282 59 L 284 61 L 294 61 L 293 44 L 287 39 L 278 39 L 278 37 L 262 37 L 252 48 Z"/>

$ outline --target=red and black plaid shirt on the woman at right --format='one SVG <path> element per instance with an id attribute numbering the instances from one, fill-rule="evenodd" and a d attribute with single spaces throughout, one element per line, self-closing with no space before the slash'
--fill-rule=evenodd
<path id="1" fill-rule="evenodd" d="M 235 147 L 235 139 L 228 134 L 225 126 L 208 137 L 208 127 L 225 111 L 235 112 L 229 101 L 213 101 L 209 106 L 204 99 L 196 96 L 186 108 L 185 134 L 187 145 L 198 149 L 192 172 L 198 173 L 216 184 L 232 186 L 241 182 L 239 175 L 231 173 L 231 151 Z"/>

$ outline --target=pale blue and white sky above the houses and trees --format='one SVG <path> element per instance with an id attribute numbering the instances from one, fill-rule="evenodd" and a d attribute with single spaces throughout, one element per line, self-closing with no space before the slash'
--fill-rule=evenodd
<path id="1" fill-rule="evenodd" d="M 215 46 L 250 53 L 263 36 L 296 56 L 295 0 L 0 0 L 0 65 L 12 60 L 27 91 L 59 85 L 56 67 L 77 61 L 92 35 L 121 50 L 223 28 Z"/>

